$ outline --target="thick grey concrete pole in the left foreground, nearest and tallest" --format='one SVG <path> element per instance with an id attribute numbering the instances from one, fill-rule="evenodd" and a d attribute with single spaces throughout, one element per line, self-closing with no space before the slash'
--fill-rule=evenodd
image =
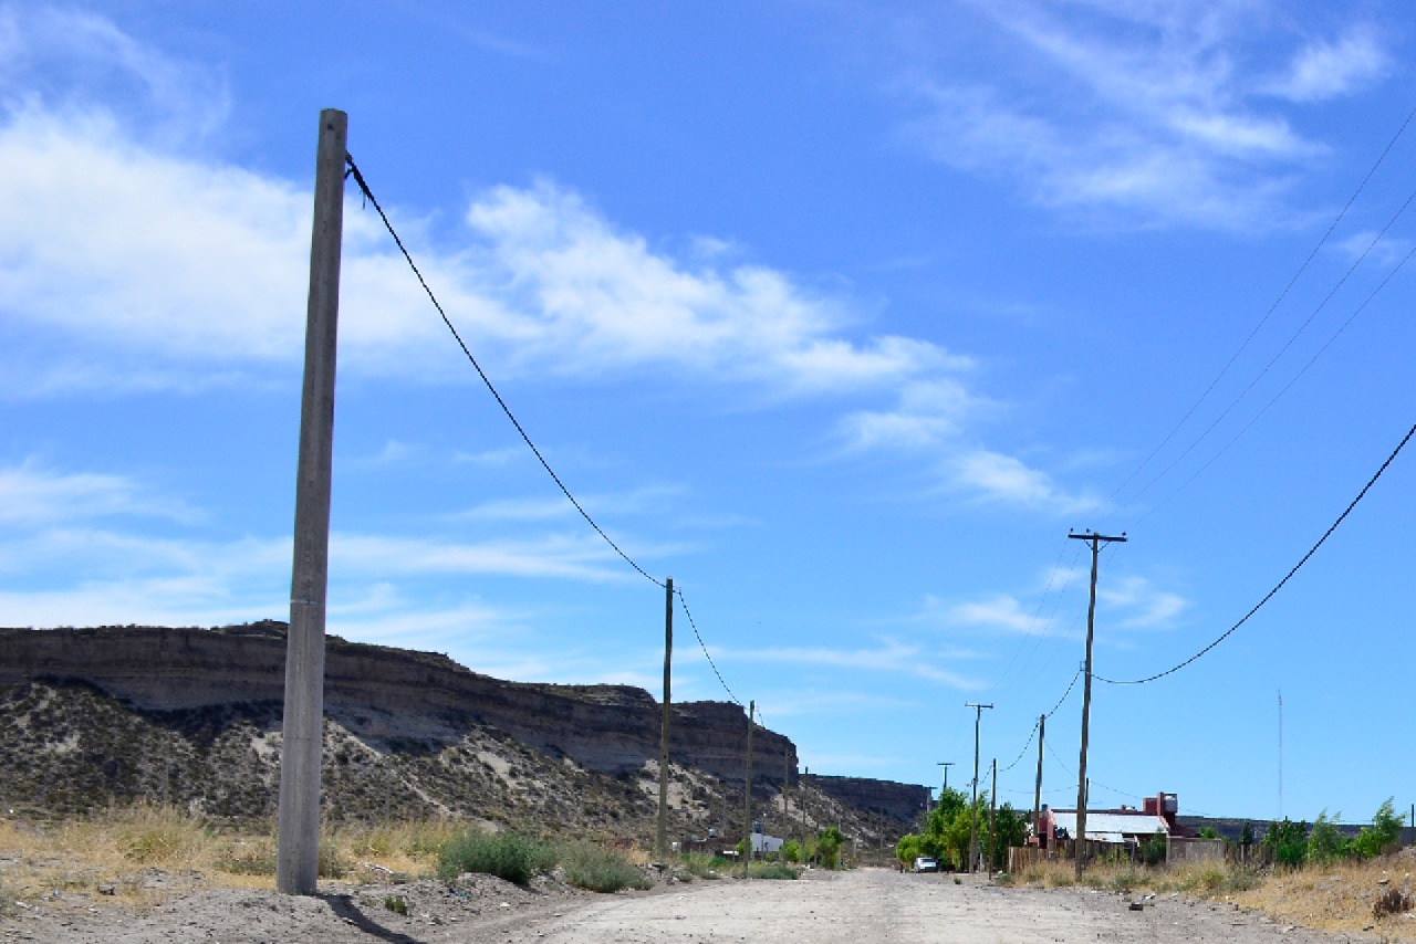
<path id="1" fill-rule="evenodd" d="M 320 750 L 324 742 L 324 594 L 330 559 L 330 477 L 334 451 L 334 355 L 344 235 L 348 116 L 320 112 L 310 234 L 310 294 L 304 323 L 304 389 L 295 484 L 295 560 L 285 657 L 276 889 L 316 890 L 320 865 Z"/>

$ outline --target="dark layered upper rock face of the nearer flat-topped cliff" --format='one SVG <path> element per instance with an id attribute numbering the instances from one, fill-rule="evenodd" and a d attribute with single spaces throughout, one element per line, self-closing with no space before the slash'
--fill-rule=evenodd
<path id="1" fill-rule="evenodd" d="M 0 685 L 72 681 L 147 710 L 278 706 L 286 627 L 0 628 Z M 658 757 L 660 705 L 627 685 L 535 685 L 472 672 L 445 655 L 330 637 L 324 712 L 374 749 L 439 752 L 470 729 L 498 729 L 549 757 L 609 774 Z M 796 778 L 796 746 L 753 733 L 753 780 Z M 726 781 L 743 777 L 746 715 L 725 702 L 675 705 L 670 759 Z M 783 760 L 786 763 L 783 763 Z"/>

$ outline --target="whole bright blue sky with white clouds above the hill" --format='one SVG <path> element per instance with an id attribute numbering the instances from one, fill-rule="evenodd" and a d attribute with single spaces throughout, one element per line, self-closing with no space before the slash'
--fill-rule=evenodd
<path id="1" fill-rule="evenodd" d="M 0 623 L 287 616 L 340 108 L 531 437 L 801 763 L 937 784 L 952 760 L 956 785 L 964 703 L 991 702 L 983 764 L 1029 805 L 1029 730 L 1082 658 L 1069 529 L 1129 534 L 1096 672 L 1150 675 L 1416 422 L 1403 14 L 0 6 Z M 561 497 L 353 185 L 340 333 L 330 630 L 657 693 L 661 590 Z M 1202 660 L 1097 684 L 1093 805 L 1276 815 L 1280 689 L 1284 814 L 1416 800 L 1413 463 Z M 675 698 L 725 698 L 675 628 Z M 1079 696 L 1048 720 L 1056 805 Z"/>

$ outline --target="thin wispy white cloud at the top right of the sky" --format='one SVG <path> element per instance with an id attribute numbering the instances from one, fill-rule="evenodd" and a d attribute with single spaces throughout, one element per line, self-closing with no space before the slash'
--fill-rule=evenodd
<path id="1" fill-rule="evenodd" d="M 909 140 L 1037 202 L 1127 225 L 1281 222 L 1291 178 L 1325 146 L 1274 96 L 1349 95 L 1388 69 L 1372 31 L 1354 30 L 1304 38 L 1274 81 L 1272 50 L 1291 40 L 1263 4 L 957 3 L 925 28 L 939 42 L 898 82 L 925 105 Z M 977 57 L 987 69 L 967 68 Z"/>

